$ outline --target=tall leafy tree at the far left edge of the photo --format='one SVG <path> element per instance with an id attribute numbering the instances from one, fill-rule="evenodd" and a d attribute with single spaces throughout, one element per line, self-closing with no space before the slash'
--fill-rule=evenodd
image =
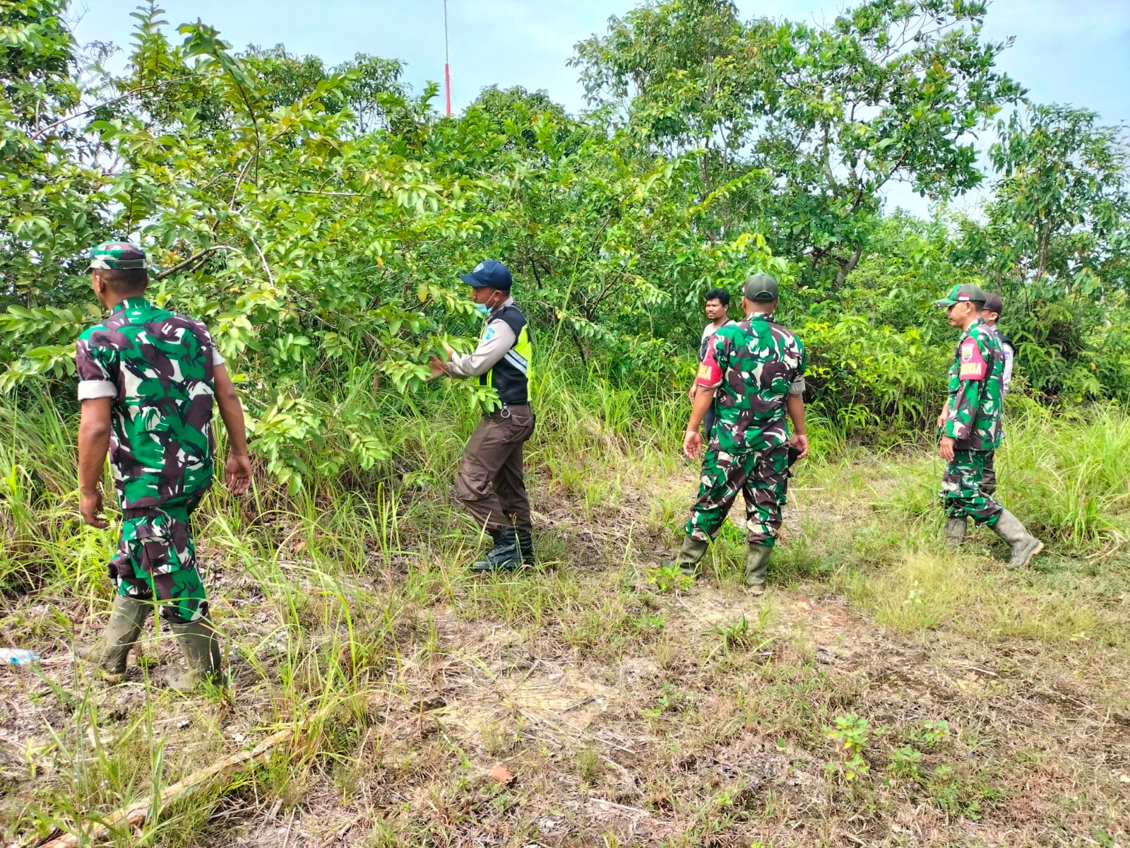
<path id="1" fill-rule="evenodd" d="M 64 10 L 55 0 L 0 6 L 0 343 L 29 351 L 28 375 L 73 369 L 53 343 L 89 318 L 68 279 L 107 216 L 103 176 L 78 156 L 84 92 Z"/>

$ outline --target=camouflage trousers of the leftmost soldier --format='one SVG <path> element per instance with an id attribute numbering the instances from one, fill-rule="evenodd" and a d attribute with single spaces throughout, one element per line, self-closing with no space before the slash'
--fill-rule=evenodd
<path id="1" fill-rule="evenodd" d="M 195 504 L 193 504 L 194 507 Z M 192 507 L 127 509 L 110 579 L 119 595 L 153 599 L 174 624 L 208 614 L 189 518 Z"/>

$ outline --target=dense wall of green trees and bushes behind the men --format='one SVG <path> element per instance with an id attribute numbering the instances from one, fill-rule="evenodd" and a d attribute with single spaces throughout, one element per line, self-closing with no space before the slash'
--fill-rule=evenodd
<path id="1" fill-rule="evenodd" d="M 951 355 L 928 303 L 977 280 L 1006 297 L 1022 389 L 1130 400 L 1116 130 L 1033 110 L 999 124 L 983 216 L 883 214 L 893 180 L 945 199 L 981 179 L 972 132 L 1019 92 L 981 5 L 872 0 L 810 27 L 661 2 L 579 46 L 596 112 L 488 87 L 453 119 L 395 60 L 237 53 L 200 21 L 171 34 L 155 3 L 114 77 L 63 10 L 0 7 L 0 390 L 17 397 L 72 397 L 59 378 L 97 314 L 82 253 L 130 237 L 153 296 L 212 327 L 254 450 L 292 487 L 391 457 L 348 387 L 428 391 L 428 356 L 473 344 L 455 275 L 485 256 L 515 271 L 542 367 L 663 392 L 702 294 L 771 270 L 814 415 L 904 430 L 932 417 Z"/>

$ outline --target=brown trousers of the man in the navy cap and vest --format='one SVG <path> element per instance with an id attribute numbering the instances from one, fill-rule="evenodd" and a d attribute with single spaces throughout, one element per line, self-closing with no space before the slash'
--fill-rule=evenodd
<path id="1" fill-rule="evenodd" d="M 530 530 L 522 445 L 533 434 L 534 415 L 525 404 L 483 416 L 463 450 L 455 475 L 455 496 L 487 530 Z"/>

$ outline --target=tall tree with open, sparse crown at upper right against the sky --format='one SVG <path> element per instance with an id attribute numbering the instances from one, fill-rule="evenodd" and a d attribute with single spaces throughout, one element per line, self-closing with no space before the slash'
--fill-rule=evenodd
<path id="1" fill-rule="evenodd" d="M 973 130 L 1023 92 L 983 42 L 985 3 L 872 0 L 831 27 L 785 25 L 775 51 L 781 109 L 757 142 L 783 181 L 781 242 L 843 285 L 875 232 L 892 181 L 946 198 L 977 185 Z"/>

